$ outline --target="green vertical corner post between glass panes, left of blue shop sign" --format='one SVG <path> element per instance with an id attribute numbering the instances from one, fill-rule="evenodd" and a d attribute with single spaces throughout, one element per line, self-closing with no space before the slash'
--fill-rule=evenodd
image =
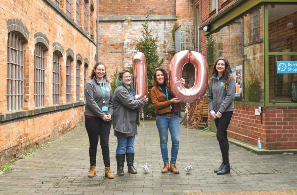
<path id="1" fill-rule="evenodd" d="M 264 102 L 269 103 L 269 58 L 268 58 L 268 4 L 264 4 Z"/>

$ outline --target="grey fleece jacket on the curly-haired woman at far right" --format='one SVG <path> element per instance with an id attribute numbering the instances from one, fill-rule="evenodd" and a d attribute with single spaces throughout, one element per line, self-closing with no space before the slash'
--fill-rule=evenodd
<path id="1" fill-rule="evenodd" d="M 211 77 L 208 88 L 208 108 L 209 111 L 219 111 L 223 114 L 234 110 L 235 81 L 233 75 L 230 74 L 227 80 L 227 90 L 224 89 L 222 81 L 222 76 L 218 80 L 217 74 Z"/>

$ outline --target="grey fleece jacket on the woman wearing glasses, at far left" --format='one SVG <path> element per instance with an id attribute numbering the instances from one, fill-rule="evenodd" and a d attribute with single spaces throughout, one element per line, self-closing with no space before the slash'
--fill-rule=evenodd
<path id="1" fill-rule="evenodd" d="M 103 93 L 100 88 L 100 84 L 96 77 L 89 80 L 85 87 L 85 115 L 97 116 L 102 118 L 105 114 L 113 115 L 113 92 L 111 90 L 110 84 L 104 80 L 104 92 L 105 92 L 105 103 L 103 105 Z M 101 84 L 102 85 L 102 84 Z M 103 86 L 102 86 L 103 87 Z M 108 111 L 102 111 L 102 106 L 108 106 Z"/>

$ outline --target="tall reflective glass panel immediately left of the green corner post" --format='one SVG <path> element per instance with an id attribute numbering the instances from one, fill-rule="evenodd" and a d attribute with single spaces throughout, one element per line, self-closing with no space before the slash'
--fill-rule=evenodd
<path id="1" fill-rule="evenodd" d="M 260 8 L 255 8 L 243 17 L 244 100 L 256 103 L 264 102 L 264 9 L 263 6 Z M 258 18 L 259 23 L 255 23 Z M 255 29 L 256 26 L 258 28 Z M 253 38 L 256 34 L 257 38 Z"/>

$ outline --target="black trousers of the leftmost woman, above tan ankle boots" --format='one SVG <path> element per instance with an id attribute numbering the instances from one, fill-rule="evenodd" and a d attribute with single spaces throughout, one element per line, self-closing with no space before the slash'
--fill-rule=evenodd
<path id="1" fill-rule="evenodd" d="M 99 117 L 85 118 L 85 127 L 88 132 L 90 148 L 90 166 L 96 165 L 98 137 L 105 167 L 110 167 L 108 139 L 110 134 L 111 122 L 105 122 Z"/>

